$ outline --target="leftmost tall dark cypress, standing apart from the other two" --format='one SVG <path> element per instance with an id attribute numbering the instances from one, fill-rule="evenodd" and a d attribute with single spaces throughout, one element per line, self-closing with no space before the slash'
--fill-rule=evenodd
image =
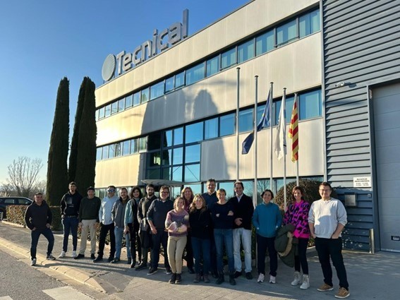
<path id="1" fill-rule="evenodd" d="M 64 77 L 59 84 L 51 131 L 49 158 L 47 160 L 47 203 L 59 205 L 68 188 L 69 139 L 69 80 Z"/>

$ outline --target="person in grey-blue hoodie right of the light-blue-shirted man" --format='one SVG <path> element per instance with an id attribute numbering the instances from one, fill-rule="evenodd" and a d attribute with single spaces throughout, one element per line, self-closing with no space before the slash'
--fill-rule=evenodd
<path id="1" fill-rule="evenodd" d="M 114 222 L 114 236 L 115 236 L 115 257 L 110 263 L 118 263 L 121 260 L 121 248 L 122 248 L 122 237 L 123 230 L 125 229 L 125 211 L 126 204 L 129 201 L 128 190 L 121 188 L 119 191 L 120 197 L 114 203 L 111 210 L 111 219 Z M 128 260 L 131 259 L 131 253 L 128 252 Z"/>

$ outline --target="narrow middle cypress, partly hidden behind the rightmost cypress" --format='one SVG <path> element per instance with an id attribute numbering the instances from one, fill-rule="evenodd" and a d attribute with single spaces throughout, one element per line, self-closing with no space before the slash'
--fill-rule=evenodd
<path id="1" fill-rule="evenodd" d="M 79 88 L 78 104 L 75 113 L 75 123 L 73 124 L 71 151 L 69 153 L 68 182 L 75 181 L 75 174 L 77 168 L 76 159 L 78 156 L 79 126 L 80 126 L 80 119 L 82 118 L 83 104 L 85 102 L 85 90 L 86 90 L 87 79 L 88 79 L 87 77 L 83 78 L 83 81 L 80 84 Z"/>

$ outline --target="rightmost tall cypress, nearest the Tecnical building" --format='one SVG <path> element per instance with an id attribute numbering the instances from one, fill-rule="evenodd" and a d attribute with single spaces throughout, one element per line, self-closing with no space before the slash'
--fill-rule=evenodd
<path id="1" fill-rule="evenodd" d="M 82 191 L 88 186 L 95 186 L 96 167 L 96 103 L 95 83 L 87 78 L 85 85 L 85 100 L 79 122 L 78 148 L 75 168 L 75 182 Z M 70 165 L 70 168 L 72 166 Z"/>

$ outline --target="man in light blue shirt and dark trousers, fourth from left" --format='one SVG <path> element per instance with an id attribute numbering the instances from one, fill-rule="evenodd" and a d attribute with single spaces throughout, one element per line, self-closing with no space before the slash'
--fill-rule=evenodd
<path id="1" fill-rule="evenodd" d="M 98 256 L 93 260 L 93 263 L 99 263 L 103 260 L 104 244 L 106 243 L 107 232 L 110 233 L 110 255 L 108 258 L 109 263 L 114 260 L 115 255 L 115 235 L 114 235 L 114 222 L 111 219 L 111 211 L 118 200 L 118 196 L 115 194 L 115 186 L 109 186 L 107 188 L 107 196 L 102 200 L 102 205 L 99 210 L 99 221 L 100 221 L 100 236 L 99 236 L 99 252 Z"/>

